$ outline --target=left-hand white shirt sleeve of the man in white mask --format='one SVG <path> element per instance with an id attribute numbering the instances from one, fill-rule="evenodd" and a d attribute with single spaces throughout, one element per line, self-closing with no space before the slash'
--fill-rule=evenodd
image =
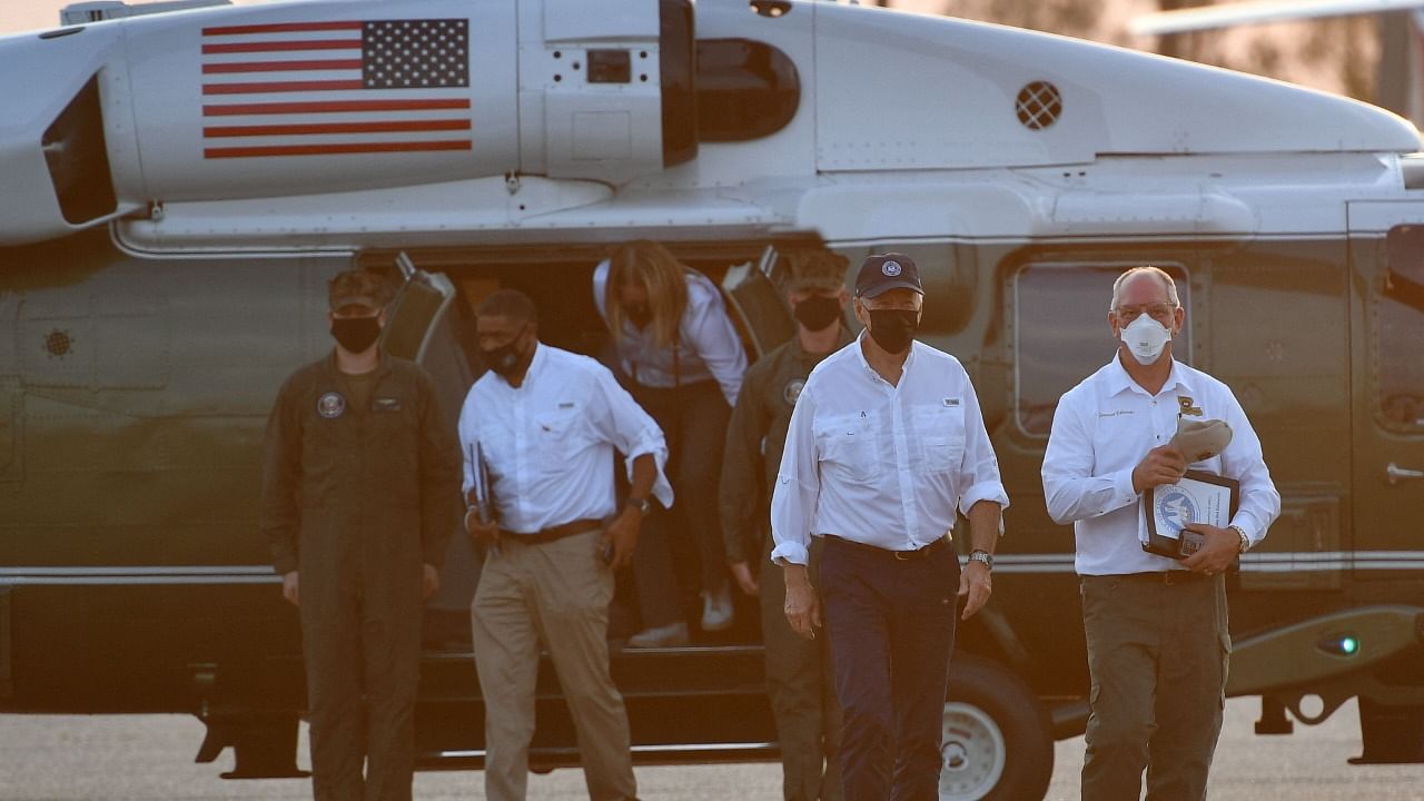
<path id="1" fill-rule="evenodd" d="M 1098 517 L 1138 500 L 1131 467 L 1092 473 L 1092 433 L 1084 425 L 1084 398 L 1069 392 L 1058 402 L 1044 452 L 1044 502 L 1048 516 L 1059 524 Z M 1091 395 L 1087 398 L 1091 400 Z"/>

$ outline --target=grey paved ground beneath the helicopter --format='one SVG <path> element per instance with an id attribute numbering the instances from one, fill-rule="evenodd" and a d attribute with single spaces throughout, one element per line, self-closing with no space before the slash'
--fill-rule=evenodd
<path id="1" fill-rule="evenodd" d="M 1212 774 L 1213 801 L 1415 801 L 1424 797 L 1424 765 L 1353 767 L 1360 753 L 1354 706 L 1319 727 L 1296 727 L 1292 737 L 1256 737 L 1256 704 L 1227 704 L 1226 727 Z M 224 781 L 231 753 L 218 767 L 192 764 L 202 724 L 189 717 L 26 717 L 0 715 L 0 800 L 209 801 L 229 798 L 310 798 L 295 780 Z M 305 745 L 303 745 L 305 748 Z M 305 763 L 305 758 L 302 760 Z M 1048 798 L 1077 798 L 1082 738 L 1058 744 Z M 699 801 L 779 797 L 778 765 L 638 768 L 646 801 Z M 484 794 L 478 772 L 416 777 L 422 801 L 470 801 Z M 578 771 L 533 777 L 531 800 L 587 798 Z"/>

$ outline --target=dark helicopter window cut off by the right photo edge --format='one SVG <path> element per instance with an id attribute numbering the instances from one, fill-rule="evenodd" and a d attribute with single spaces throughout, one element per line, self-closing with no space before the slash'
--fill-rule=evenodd
<path id="1" fill-rule="evenodd" d="M 1393 426 L 1424 428 L 1424 227 L 1398 225 L 1388 235 L 1388 274 L 1374 304 L 1376 389 Z"/>

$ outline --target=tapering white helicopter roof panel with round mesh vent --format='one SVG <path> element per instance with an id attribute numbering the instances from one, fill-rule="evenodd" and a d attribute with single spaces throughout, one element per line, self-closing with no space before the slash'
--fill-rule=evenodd
<path id="1" fill-rule="evenodd" d="M 857 153 L 871 130 L 904 143 L 896 155 L 906 167 L 1420 147 L 1401 117 L 1299 86 L 987 23 L 866 11 L 819 9 L 822 154 Z"/>

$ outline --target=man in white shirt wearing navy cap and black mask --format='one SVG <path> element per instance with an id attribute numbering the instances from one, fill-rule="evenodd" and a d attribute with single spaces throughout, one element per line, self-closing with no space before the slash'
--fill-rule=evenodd
<path id="1" fill-rule="evenodd" d="M 1008 506 L 968 375 L 914 341 L 923 304 L 910 257 L 866 258 L 866 332 L 806 379 L 772 497 L 792 629 L 815 637 L 824 603 L 847 801 L 938 798 L 954 594 L 964 619 L 988 601 Z M 963 574 L 948 546 L 957 510 L 974 547 Z M 812 537 L 824 540 L 819 597 Z"/>

